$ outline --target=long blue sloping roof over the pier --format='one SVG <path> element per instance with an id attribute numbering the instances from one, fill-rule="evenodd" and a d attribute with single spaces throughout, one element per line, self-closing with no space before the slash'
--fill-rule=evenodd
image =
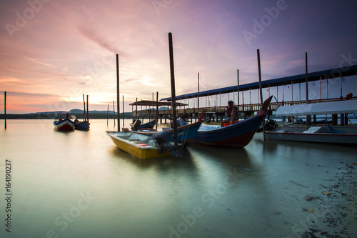
<path id="1" fill-rule="evenodd" d="M 341 76 L 351 76 L 357 74 L 357 64 L 352 66 L 346 66 L 335 69 L 326 69 L 322 71 L 316 71 L 308 73 L 308 81 L 317 81 L 321 79 L 333 79 Z M 263 88 L 271 87 L 271 86 L 282 86 L 286 84 L 299 84 L 306 81 L 305 74 L 298 74 L 294 76 L 286 76 L 278 79 L 268 79 L 261 81 L 261 86 Z M 229 92 L 237 91 L 238 87 L 235 86 L 226 86 L 219 89 L 211 89 L 206 91 L 200 91 L 199 96 L 209 96 L 215 94 L 226 94 Z M 245 91 L 249 89 L 259 89 L 259 82 L 253 82 L 249 84 L 241 84 L 239 85 L 239 91 Z M 198 92 L 190 93 L 190 94 L 182 94 L 176 96 L 176 100 L 182 99 L 190 99 L 198 96 Z M 160 101 L 171 101 L 171 97 L 167 97 L 164 99 L 160 99 Z"/>

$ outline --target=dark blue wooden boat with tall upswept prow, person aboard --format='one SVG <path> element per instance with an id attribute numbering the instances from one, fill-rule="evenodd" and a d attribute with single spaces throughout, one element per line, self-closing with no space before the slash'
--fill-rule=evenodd
<path id="1" fill-rule="evenodd" d="M 263 102 L 263 106 L 258 114 L 243 121 L 227 125 L 226 127 L 203 124 L 204 126 L 198 129 L 193 142 L 214 147 L 245 147 L 251 142 L 253 135 L 263 122 L 272 97 L 270 96 Z"/>

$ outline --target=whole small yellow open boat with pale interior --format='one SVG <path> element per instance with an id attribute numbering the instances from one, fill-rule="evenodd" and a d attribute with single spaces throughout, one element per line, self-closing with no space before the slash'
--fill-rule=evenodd
<path id="1" fill-rule="evenodd" d="M 169 155 L 162 152 L 156 140 L 142 134 L 132 132 L 106 132 L 119 149 L 139 159 L 150 159 Z"/>

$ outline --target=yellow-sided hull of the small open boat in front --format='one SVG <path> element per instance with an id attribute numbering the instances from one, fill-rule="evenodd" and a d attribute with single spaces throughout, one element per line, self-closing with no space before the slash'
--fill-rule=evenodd
<path id="1" fill-rule="evenodd" d="M 132 132 L 107 132 L 116 147 L 139 159 L 151 159 L 164 157 L 169 152 L 161 152 L 159 147 L 153 147 L 144 143 L 134 143 L 129 140 Z"/>

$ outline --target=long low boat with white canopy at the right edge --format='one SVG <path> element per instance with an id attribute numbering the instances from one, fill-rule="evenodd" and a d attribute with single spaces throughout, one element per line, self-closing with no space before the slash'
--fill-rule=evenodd
<path id="1" fill-rule="evenodd" d="M 296 106 L 280 106 L 275 111 L 275 116 L 306 116 L 323 114 L 355 114 L 357 101 L 329 101 L 316 104 L 301 104 Z M 319 124 L 306 127 L 306 125 L 280 125 L 273 127 L 271 132 L 264 133 L 266 139 L 277 139 L 297 142 L 321 142 L 328 144 L 357 144 L 357 129 L 351 126 L 331 126 Z"/>

